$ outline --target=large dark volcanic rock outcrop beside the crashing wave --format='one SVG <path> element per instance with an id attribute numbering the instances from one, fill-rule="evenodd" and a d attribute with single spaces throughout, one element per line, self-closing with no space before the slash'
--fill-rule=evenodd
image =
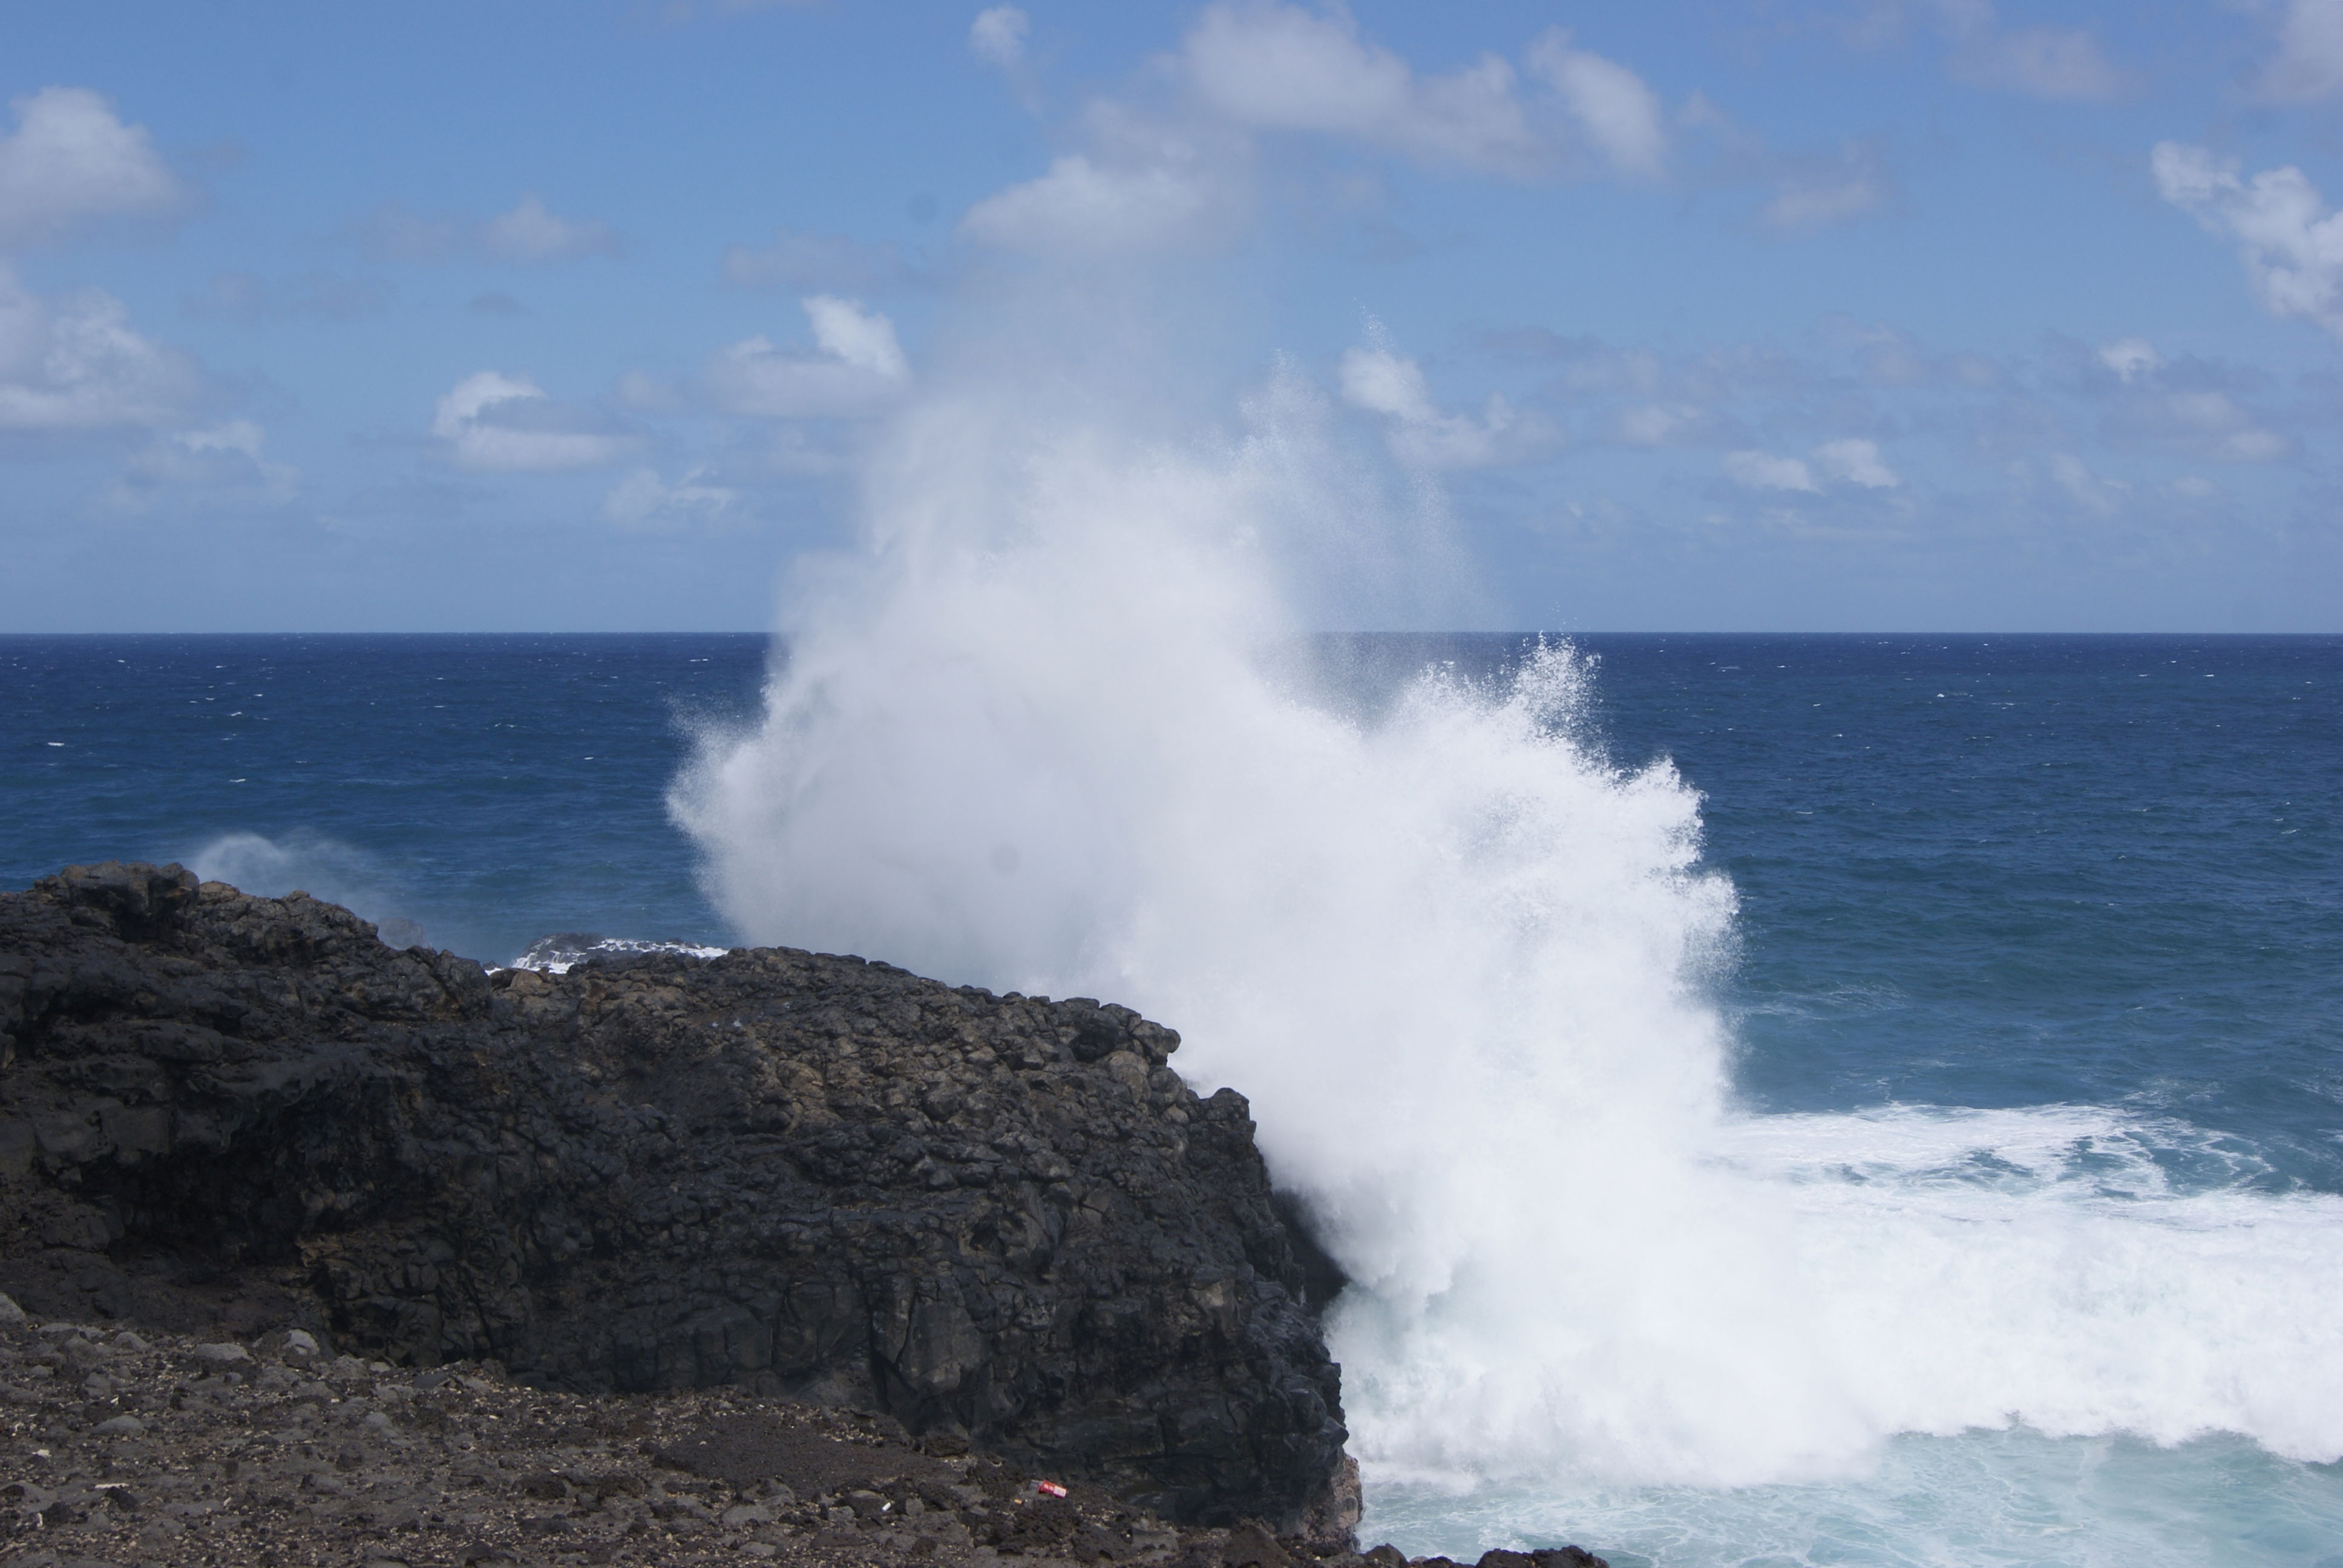
<path id="1" fill-rule="evenodd" d="M 302 893 L 73 867 L 0 893 L 0 1289 L 855 1404 L 1172 1519 L 1340 1528 L 1305 1268 L 1176 1045 L 790 949 L 483 973 Z"/>

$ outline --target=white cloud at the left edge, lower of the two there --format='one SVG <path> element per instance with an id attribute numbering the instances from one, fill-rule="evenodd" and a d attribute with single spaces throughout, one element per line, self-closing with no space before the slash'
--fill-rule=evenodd
<path id="1" fill-rule="evenodd" d="M 176 427 L 201 396 L 194 361 L 131 330 L 122 300 L 40 298 L 0 263 L 0 431 Z"/>

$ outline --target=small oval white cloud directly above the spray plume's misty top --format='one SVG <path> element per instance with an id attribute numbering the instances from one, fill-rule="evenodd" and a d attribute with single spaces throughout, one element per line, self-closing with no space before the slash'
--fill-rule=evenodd
<path id="1" fill-rule="evenodd" d="M 1218 185 L 1195 166 L 1111 169 L 1068 152 L 1050 173 L 970 206 L 961 232 L 1029 255 L 1115 255 L 1188 239 L 1218 206 Z"/>

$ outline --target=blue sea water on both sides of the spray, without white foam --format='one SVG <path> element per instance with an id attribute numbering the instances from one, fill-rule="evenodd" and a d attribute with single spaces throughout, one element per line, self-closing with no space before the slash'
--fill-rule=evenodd
<path id="1" fill-rule="evenodd" d="M 1626 769 L 1671 757 L 1703 795 L 1703 860 L 1739 898 L 1713 984 L 1760 1134 L 1835 1116 L 1912 1139 L 2024 1113 L 2022 1137 L 1968 1139 L 1942 1179 L 2034 1179 L 2038 1155 L 2111 1205 L 2151 1186 L 2343 1193 L 2343 640 L 1577 645 L 1598 661 L 1586 741 Z M 1427 663 L 1502 680 L 1523 652 L 1310 649 L 1328 701 L 1368 724 Z M 696 734 L 754 720 L 766 654 L 682 635 L 0 638 L 0 881 L 183 860 L 485 961 L 551 930 L 719 942 L 665 790 Z M 1860 1477 L 1799 1484 L 1387 1477 L 1368 1526 L 1410 1552 L 1579 1540 L 1671 1568 L 2310 1568 L 2343 1563 L 2343 1472 L 2221 1432 L 2015 1425 L 1898 1437 Z"/>

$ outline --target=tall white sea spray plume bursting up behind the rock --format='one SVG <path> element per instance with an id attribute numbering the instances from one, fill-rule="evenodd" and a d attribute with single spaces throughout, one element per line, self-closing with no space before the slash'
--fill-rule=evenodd
<path id="1" fill-rule="evenodd" d="M 1303 626 L 1296 534 L 1326 548 L 1307 441 L 1003 424 L 907 417 L 862 555 L 792 600 L 764 727 L 679 783 L 738 928 L 1181 1020 L 1401 1313 L 1511 1289 L 1556 1191 L 1682 1186 L 1731 895 L 1673 771 L 1579 743 L 1586 666 L 1345 722 L 1256 659 Z M 1544 1172 L 1563 1139 L 1577 1181 Z"/>

